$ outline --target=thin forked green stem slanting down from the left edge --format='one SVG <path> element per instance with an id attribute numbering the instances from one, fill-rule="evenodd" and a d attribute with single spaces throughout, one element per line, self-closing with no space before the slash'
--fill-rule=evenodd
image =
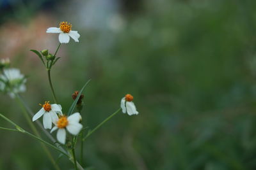
<path id="1" fill-rule="evenodd" d="M 44 143 L 44 144 L 47 145 L 47 146 L 50 146 L 51 148 L 54 148 L 55 150 L 58 150 L 59 152 L 63 153 L 64 155 L 66 155 L 66 156 L 68 157 L 67 153 L 63 152 L 62 150 L 60 150 L 60 149 L 57 148 L 56 146 L 51 145 L 51 143 L 48 143 L 47 141 L 44 141 L 43 139 L 38 138 L 37 136 L 35 136 L 35 135 L 33 135 L 33 134 L 31 134 L 31 133 L 25 131 L 24 129 L 22 129 L 21 127 L 19 127 L 19 125 L 17 125 L 17 124 L 15 124 L 14 122 L 12 122 L 12 120 L 10 120 L 9 118 L 4 117 L 4 115 L 2 115 L 1 113 L 0 113 L 0 117 L 2 117 L 4 120 L 6 120 L 7 122 L 9 122 L 10 124 L 14 125 L 14 126 L 16 127 L 17 131 L 22 132 L 22 133 L 24 133 L 24 134 L 27 134 L 27 135 L 30 136 L 31 138 L 37 139 L 38 141 Z M 3 129 L 3 128 L 2 128 L 2 129 Z M 13 131 L 13 129 L 8 129 L 8 128 L 4 128 L 4 130 Z"/>

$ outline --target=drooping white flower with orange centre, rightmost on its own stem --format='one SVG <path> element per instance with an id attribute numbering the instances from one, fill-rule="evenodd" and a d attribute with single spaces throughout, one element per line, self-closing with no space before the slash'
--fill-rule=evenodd
<path id="1" fill-rule="evenodd" d="M 128 113 L 128 115 L 138 115 L 138 111 L 136 110 L 136 107 L 134 105 L 134 103 L 132 102 L 133 100 L 133 96 L 131 96 L 131 94 L 127 94 L 125 95 L 125 97 L 123 97 L 121 99 L 121 108 L 123 113 Z"/>

